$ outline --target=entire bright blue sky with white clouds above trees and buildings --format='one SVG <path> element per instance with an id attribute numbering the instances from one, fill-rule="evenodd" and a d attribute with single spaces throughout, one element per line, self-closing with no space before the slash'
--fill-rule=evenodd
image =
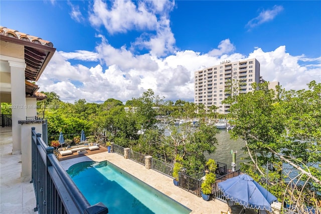
<path id="1" fill-rule="evenodd" d="M 285 89 L 321 82 L 320 1 L 1 1 L 0 25 L 57 49 L 40 90 L 193 101 L 194 71 L 256 57 Z"/>

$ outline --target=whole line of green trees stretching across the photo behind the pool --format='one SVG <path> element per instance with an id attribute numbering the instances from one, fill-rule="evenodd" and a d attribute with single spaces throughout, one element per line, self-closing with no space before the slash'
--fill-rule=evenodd
<path id="1" fill-rule="evenodd" d="M 311 81 L 307 85 L 308 89 L 273 90 L 268 89 L 268 83 L 254 83 L 254 91 L 223 101 L 231 106 L 228 115 L 218 114 L 214 105 L 206 109 L 184 100 L 165 101 L 151 89 L 125 104 L 113 98 L 100 104 L 85 99 L 68 103 L 55 92 L 44 92 L 48 98 L 38 104 L 50 108 L 38 111 L 48 120 L 50 140 L 57 140 L 60 132 L 67 136 L 80 135 L 81 130 L 86 135 L 103 134 L 117 145 L 169 163 L 179 157 L 188 174 L 204 170 L 204 152 L 214 153 L 216 149 L 217 129 L 205 122 L 232 118 L 231 137 L 246 142 L 248 157 L 241 170 L 298 213 L 308 212 L 307 207 L 319 213 L 321 83 Z M 175 126 L 175 119 L 192 118 L 199 120 L 199 126 Z M 139 134 L 140 130 L 144 134 Z"/>

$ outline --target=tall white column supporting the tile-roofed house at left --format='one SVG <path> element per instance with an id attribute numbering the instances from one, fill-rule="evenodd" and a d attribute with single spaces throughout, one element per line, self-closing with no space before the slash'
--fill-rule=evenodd
<path id="1" fill-rule="evenodd" d="M 26 120 L 26 63 L 8 61 L 11 72 L 11 103 L 12 103 L 12 154 L 21 154 L 20 120 Z"/>

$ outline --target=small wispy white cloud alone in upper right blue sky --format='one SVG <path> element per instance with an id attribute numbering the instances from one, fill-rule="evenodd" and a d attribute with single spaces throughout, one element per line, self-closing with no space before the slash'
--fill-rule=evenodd
<path id="1" fill-rule="evenodd" d="M 276 15 L 278 15 L 280 12 L 283 11 L 283 7 L 282 6 L 277 6 L 275 5 L 273 7 L 272 10 L 266 10 L 266 11 L 262 11 L 258 17 L 255 17 L 254 19 L 251 19 L 245 27 L 248 27 L 248 28 L 254 28 L 258 25 L 261 25 L 265 22 L 269 22 L 271 20 L 273 20 Z"/>

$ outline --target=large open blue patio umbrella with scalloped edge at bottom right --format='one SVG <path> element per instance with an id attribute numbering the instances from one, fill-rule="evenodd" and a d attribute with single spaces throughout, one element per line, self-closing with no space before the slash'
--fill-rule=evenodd
<path id="1" fill-rule="evenodd" d="M 271 203 L 277 198 L 249 175 L 242 174 L 218 183 L 224 196 L 245 208 L 272 211 Z"/>

